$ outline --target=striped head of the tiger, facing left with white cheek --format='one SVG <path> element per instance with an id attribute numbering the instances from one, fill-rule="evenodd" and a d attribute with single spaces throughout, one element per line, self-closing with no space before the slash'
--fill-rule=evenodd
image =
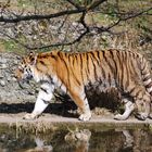
<path id="1" fill-rule="evenodd" d="M 21 80 L 29 80 L 34 77 L 34 67 L 36 64 L 36 54 L 30 52 L 27 56 L 23 58 L 15 71 L 15 78 Z"/>

